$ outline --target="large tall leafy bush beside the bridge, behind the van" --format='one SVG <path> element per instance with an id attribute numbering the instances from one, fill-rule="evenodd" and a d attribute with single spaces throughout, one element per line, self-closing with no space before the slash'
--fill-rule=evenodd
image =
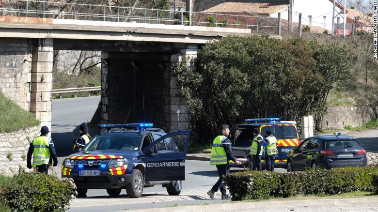
<path id="1" fill-rule="evenodd" d="M 187 98 L 194 140 L 211 141 L 221 124 L 252 117 L 299 121 L 313 114 L 319 129 L 329 91 L 350 76 L 350 58 L 341 44 L 229 36 L 201 48 L 192 68 L 183 58 L 173 74 Z"/>

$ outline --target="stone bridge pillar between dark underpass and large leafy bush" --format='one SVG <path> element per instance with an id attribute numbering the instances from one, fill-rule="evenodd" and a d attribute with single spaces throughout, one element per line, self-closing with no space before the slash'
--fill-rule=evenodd
<path id="1" fill-rule="evenodd" d="M 168 114 L 167 118 L 169 118 L 166 120 L 169 122 L 167 123 L 169 131 L 185 130 L 190 127 L 189 108 L 186 104 L 185 97 L 181 94 L 177 86 L 177 77 L 172 75 L 172 66 L 176 62 L 181 61 L 182 57 L 187 57 L 189 59 L 188 65 L 192 68 L 194 64 L 191 62 L 191 59 L 197 58 L 197 50 L 197 45 L 187 45 L 180 53 L 171 56 L 172 65 L 170 70 L 166 73 L 170 85 L 170 92 L 167 98 L 170 102 L 169 107 L 166 107 L 167 109 L 165 111 Z"/>

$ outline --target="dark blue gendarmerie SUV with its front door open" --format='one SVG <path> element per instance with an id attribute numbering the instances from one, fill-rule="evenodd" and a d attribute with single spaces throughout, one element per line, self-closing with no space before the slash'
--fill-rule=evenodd
<path id="1" fill-rule="evenodd" d="M 179 195 L 185 180 L 189 130 L 166 134 L 152 123 L 101 124 L 102 131 L 63 161 L 62 178 L 73 178 L 79 197 L 88 189 L 141 197 L 144 187 L 162 185 Z"/>

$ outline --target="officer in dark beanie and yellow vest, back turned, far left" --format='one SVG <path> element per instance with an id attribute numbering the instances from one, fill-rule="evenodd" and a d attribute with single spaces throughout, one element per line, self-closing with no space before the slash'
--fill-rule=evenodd
<path id="1" fill-rule="evenodd" d="M 47 174 L 48 166 L 51 164 L 51 157 L 54 161 L 53 167 L 58 165 L 58 157 L 55 152 L 54 143 L 47 137 L 48 127 L 41 127 L 41 135 L 34 137 L 28 151 L 27 167 L 31 168 L 31 154 L 33 154 L 33 165 L 40 173 Z"/>

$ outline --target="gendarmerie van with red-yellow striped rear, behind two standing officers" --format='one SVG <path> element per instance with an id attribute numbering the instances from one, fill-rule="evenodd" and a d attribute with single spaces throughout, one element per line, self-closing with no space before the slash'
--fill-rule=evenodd
<path id="1" fill-rule="evenodd" d="M 232 152 L 236 160 L 242 162 L 241 165 L 230 164 L 230 167 L 253 167 L 252 155 L 250 154 L 253 140 L 253 128 L 259 128 L 260 135 L 265 136 L 267 131 L 277 138 L 277 150 L 275 157 L 275 167 L 286 167 L 286 161 L 293 150 L 300 144 L 297 124 L 293 121 L 280 121 L 279 118 L 246 119 L 245 123 L 236 124 L 230 129 L 230 141 Z M 262 155 L 265 166 L 265 154 Z"/>

